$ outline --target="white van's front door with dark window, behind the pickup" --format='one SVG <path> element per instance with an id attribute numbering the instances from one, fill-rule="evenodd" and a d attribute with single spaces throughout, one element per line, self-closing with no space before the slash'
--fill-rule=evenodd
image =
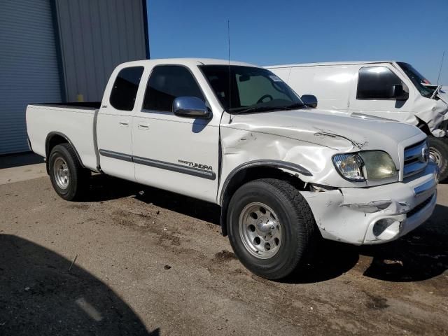
<path id="1" fill-rule="evenodd" d="M 405 78 L 390 64 L 363 66 L 358 71 L 358 80 L 354 81 L 351 94 L 350 111 L 367 115 L 412 123 L 414 119 L 412 101 L 414 91 L 405 85 Z M 392 85 L 403 85 L 409 92 L 407 100 L 390 97 Z"/>

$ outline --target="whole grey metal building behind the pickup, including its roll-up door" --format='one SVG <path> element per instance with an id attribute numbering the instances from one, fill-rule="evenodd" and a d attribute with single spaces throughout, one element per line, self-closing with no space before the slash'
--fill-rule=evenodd
<path id="1" fill-rule="evenodd" d="M 100 101 L 115 66 L 146 58 L 146 0 L 0 0 L 0 155 L 29 150 L 27 104 Z"/>

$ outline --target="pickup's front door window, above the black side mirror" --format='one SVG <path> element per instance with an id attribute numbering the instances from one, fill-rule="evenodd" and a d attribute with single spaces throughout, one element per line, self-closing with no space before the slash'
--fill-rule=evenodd
<path id="1" fill-rule="evenodd" d="M 148 80 L 143 108 L 171 112 L 173 101 L 177 97 L 197 97 L 205 100 L 188 69 L 179 65 L 155 66 Z"/>

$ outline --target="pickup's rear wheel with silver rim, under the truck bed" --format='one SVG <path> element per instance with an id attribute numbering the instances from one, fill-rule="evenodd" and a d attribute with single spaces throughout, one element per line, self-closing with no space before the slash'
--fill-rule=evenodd
<path id="1" fill-rule="evenodd" d="M 90 171 L 81 167 L 75 151 L 69 144 L 52 148 L 48 158 L 50 180 L 57 195 L 64 200 L 79 200 L 87 187 Z"/>

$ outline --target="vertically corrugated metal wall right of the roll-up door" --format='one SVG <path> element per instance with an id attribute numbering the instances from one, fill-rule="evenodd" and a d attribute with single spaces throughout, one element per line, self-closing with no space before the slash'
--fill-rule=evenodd
<path id="1" fill-rule="evenodd" d="M 145 1 L 145 0 L 144 0 Z M 146 59 L 142 0 L 56 0 L 66 99 L 99 101 L 113 69 Z"/>

